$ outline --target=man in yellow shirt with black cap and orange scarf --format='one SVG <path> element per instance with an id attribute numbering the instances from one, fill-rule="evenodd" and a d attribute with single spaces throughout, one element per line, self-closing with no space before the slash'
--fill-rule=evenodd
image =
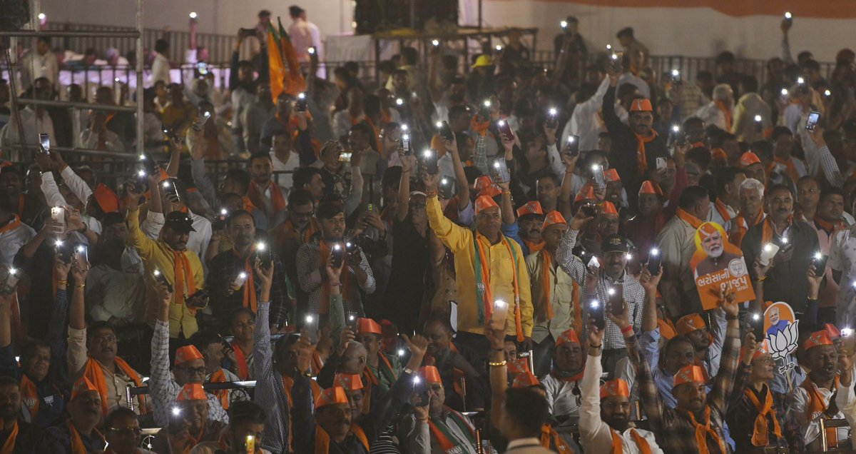
<path id="1" fill-rule="evenodd" d="M 155 271 L 173 287 L 173 303 L 169 306 L 169 338 L 190 338 L 199 331 L 196 309 L 207 301 L 198 298 L 187 301 L 197 290 L 205 288 L 205 276 L 199 256 L 187 249 L 187 239 L 193 230 L 193 219 L 183 212 L 170 212 L 161 230 L 160 239 L 152 240 L 140 230 L 140 210 L 137 196 L 128 202 L 128 239 L 146 266 L 146 323 L 154 326 L 157 295 Z"/>

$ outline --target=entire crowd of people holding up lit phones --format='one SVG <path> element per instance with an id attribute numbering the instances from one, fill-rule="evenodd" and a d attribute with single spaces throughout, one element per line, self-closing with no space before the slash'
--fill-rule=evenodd
<path id="1" fill-rule="evenodd" d="M 168 43 L 82 131 L 0 85 L 0 452 L 853 448 L 856 53 L 824 79 L 788 19 L 766 80 L 723 52 L 689 81 L 568 17 L 555 69 L 512 33 L 372 84 L 318 77 L 289 12 L 305 92 L 271 92 L 267 11 L 223 92 Z M 22 99 L 86 101 L 40 68 Z M 141 132 L 98 111 L 135 100 Z M 699 290 L 726 261 L 753 298 Z"/>

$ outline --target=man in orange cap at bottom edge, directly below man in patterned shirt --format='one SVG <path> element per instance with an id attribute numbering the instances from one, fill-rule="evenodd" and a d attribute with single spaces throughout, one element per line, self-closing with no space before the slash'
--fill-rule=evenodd
<path id="1" fill-rule="evenodd" d="M 175 404 L 169 409 L 169 422 L 152 441 L 155 452 L 187 452 L 203 441 L 220 439 L 226 425 L 208 419 L 208 394 L 199 383 L 181 388 Z"/>

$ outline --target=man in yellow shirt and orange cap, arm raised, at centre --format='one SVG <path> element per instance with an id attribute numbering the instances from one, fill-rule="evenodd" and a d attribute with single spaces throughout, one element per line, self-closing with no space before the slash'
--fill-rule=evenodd
<path id="1" fill-rule="evenodd" d="M 454 224 L 443 216 L 437 200 L 438 175 L 425 175 L 428 222 L 437 237 L 455 254 L 458 289 L 458 333 L 456 343 L 465 343 L 486 357 L 490 343 L 484 325 L 490 320 L 494 302 L 508 303 L 506 335 L 532 349 L 532 293 L 526 257 L 517 242 L 502 235 L 502 210 L 493 199 L 480 196 L 475 203 L 476 230 Z M 511 209 L 508 183 L 502 187 L 502 205 Z"/>

